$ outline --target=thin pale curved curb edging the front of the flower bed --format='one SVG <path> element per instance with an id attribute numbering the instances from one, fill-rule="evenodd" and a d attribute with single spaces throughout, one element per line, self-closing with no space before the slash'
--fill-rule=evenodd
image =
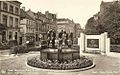
<path id="1" fill-rule="evenodd" d="M 61 73 L 61 72 L 78 72 L 78 71 L 84 71 L 84 70 L 89 70 L 92 69 L 96 66 L 96 64 L 93 62 L 93 65 L 86 67 L 86 68 L 81 68 L 81 69 L 73 69 L 73 70 L 53 70 L 53 69 L 42 69 L 42 68 L 37 68 L 37 67 L 32 67 L 25 63 L 27 67 L 32 68 L 34 70 L 39 70 L 39 71 L 46 71 L 46 72 L 56 72 L 56 73 Z"/>

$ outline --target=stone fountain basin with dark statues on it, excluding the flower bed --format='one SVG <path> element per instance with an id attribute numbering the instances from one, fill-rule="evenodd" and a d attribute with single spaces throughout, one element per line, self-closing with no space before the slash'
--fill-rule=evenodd
<path id="1" fill-rule="evenodd" d="M 58 41 L 58 45 L 55 46 L 55 40 Z M 48 31 L 48 49 L 41 50 L 40 59 L 48 59 L 48 60 L 59 60 L 60 62 L 65 60 L 75 60 L 78 59 L 79 50 L 71 49 L 67 45 L 68 36 L 65 31 L 61 31 L 58 34 L 58 38 L 56 39 L 56 33 L 54 30 Z"/>

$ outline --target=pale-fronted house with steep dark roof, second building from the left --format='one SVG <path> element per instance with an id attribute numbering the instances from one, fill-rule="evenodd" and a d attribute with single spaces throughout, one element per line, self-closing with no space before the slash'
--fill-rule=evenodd
<path id="1" fill-rule="evenodd" d="M 36 21 L 33 17 L 27 14 L 25 9 L 20 10 L 20 27 L 21 27 L 21 36 L 20 44 L 25 43 L 26 41 L 35 41 L 35 26 Z"/>

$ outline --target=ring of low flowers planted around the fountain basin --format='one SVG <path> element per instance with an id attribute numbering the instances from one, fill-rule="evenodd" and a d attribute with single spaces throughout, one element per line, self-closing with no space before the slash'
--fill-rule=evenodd
<path id="1" fill-rule="evenodd" d="M 80 59 L 73 61 L 63 61 L 58 60 L 40 60 L 39 56 L 28 58 L 27 64 L 37 68 L 43 69 L 56 69 L 56 70 L 70 70 L 70 69 L 80 69 L 89 67 L 93 64 L 92 59 L 85 56 Z"/>

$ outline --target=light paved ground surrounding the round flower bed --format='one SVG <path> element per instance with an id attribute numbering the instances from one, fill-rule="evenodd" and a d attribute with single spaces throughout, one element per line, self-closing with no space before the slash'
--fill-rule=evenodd
<path id="1" fill-rule="evenodd" d="M 92 57 L 96 66 L 79 72 L 49 72 L 30 68 L 26 65 L 28 57 L 39 55 L 39 52 L 19 54 L 18 56 L 0 55 L 0 75 L 120 75 L 120 58 L 100 54 L 84 54 Z M 7 72 L 6 72 L 7 71 Z"/>

